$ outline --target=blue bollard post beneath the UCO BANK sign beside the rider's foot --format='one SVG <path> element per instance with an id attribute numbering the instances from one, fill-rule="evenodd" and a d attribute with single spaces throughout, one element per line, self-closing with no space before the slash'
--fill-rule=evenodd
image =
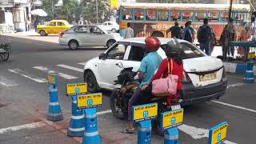
<path id="1" fill-rule="evenodd" d="M 151 120 L 138 122 L 138 144 L 151 143 Z"/>

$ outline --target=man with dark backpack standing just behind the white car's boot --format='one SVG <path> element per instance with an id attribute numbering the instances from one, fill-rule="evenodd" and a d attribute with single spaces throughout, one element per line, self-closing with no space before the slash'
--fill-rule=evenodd
<path id="1" fill-rule="evenodd" d="M 198 42 L 200 49 L 205 50 L 207 55 L 210 55 L 210 41 L 213 39 L 213 34 L 208 26 L 208 18 L 203 20 L 203 25 L 198 30 Z"/>

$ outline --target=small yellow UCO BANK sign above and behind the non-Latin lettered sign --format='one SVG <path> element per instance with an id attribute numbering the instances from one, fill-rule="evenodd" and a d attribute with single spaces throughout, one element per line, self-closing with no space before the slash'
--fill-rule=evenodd
<path id="1" fill-rule="evenodd" d="M 66 84 L 66 95 L 75 96 L 87 93 L 87 83 Z"/>

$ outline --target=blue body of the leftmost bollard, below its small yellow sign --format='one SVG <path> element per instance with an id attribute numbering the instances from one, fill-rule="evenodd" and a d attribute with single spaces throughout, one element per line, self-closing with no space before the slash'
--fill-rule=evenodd
<path id="1" fill-rule="evenodd" d="M 49 121 L 61 121 L 63 119 L 61 106 L 58 104 L 58 89 L 54 85 L 49 86 L 49 95 L 50 102 L 48 107 L 48 116 Z"/>

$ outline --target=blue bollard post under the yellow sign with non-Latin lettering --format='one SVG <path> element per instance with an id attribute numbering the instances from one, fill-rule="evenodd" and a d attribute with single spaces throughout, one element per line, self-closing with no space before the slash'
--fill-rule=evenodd
<path id="1" fill-rule="evenodd" d="M 85 133 L 82 138 L 82 144 L 101 144 L 101 138 L 98 134 L 96 108 L 88 108 L 85 112 Z"/>

